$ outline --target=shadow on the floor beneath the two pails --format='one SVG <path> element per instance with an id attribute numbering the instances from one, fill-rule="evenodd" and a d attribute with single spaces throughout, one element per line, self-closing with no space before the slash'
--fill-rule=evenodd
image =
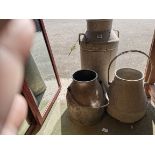
<path id="1" fill-rule="evenodd" d="M 81 126 L 72 122 L 66 110 L 56 123 L 52 134 L 62 135 L 152 135 L 155 122 L 155 108 L 149 104 L 147 113 L 140 121 L 134 124 L 121 123 L 108 114 L 103 116 L 95 126 Z M 58 129 L 59 128 L 59 129 Z M 104 131 L 103 131 L 104 129 Z M 58 131 L 60 130 L 60 131 Z M 108 130 L 108 131 L 107 131 Z"/>

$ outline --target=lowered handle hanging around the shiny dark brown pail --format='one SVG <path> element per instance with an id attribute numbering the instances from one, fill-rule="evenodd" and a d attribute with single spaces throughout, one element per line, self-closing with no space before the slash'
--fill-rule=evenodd
<path id="1" fill-rule="evenodd" d="M 100 83 L 100 85 L 101 85 L 102 81 L 99 81 L 99 83 Z M 101 85 L 101 87 L 102 87 L 102 91 L 105 93 L 105 97 L 106 97 L 106 100 L 107 100 L 107 101 L 106 101 L 107 104 L 104 104 L 104 105 L 102 105 L 102 106 L 100 106 L 100 107 L 97 107 L 96 109 L 98 109 L 98 108 L 105 108 L 105 107 L 107 107 L 107 106 L 109 105 L 109 97 L 108 97 L 108 94 L 107 94 L 105 88 L 103 88 L 102 85 Z M 71 92 L 71 88 L 68 87 L 67 90 L 68 90 L 69 95 L 70 95 L 70 96 L 72 97 L 72 99 L 74 100 L 74 102 L 77 103 L 77 104 L 79 104 L 79 105 L 82 105 L 82 104 L 79 103 L 79 101 L 77 101 L 77 100 L 75 99 L 74 95 L 73 95 L 72 92 Z M 95 109 L 95 108 L 94 108 L 94 109 Z"/>

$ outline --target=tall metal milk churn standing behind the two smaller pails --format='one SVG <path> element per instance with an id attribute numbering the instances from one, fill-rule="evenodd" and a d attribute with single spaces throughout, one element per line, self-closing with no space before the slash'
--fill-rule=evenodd
<path id="1" fill-rule="evenodd" d="M 96 71 L 106 89 L 108 88 L 108 64 L 116 56 L 119 43 L 119 33 L 116 35 L 111 28 L 112 19 L 87 20 L 86 33 L 79 34 L 81 68 Z M 110 74 L 114 70 L 115 64 Z"/>

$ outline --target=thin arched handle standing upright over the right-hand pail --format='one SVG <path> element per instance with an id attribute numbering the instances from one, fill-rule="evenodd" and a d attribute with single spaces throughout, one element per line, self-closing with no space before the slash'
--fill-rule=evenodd
<path id="1" fill-rule="evenodd" d="M 149 59 L 149 62 L 150 62 L 150 64 L 151 64 L 151 70 L 152 70 L 152 62 L 151 62 L 151 58 L 149 57 L 149 55 L 147 55 L 146 53 L 144 53 L 144 52 L 142 52 L 142 51 L 138 51 L 138 50 L 124 51 L 124 52 L 121 52 L 120 54 L 116 55 L 116 56 L 111 60 L 111 62 L 110 62 L 110 64 L 109 64 L 109 67 L 108 67 L 108 84 L 110 84 L 109 76 L 110 76 L 110 67 L 111 67 L 112 63 L 113 63 L 119 56 L 121 56 L 121 55 L 123 55 L 123 54 L 126 54 L 126 53 L 129 53 L 129 52 L 131 52 L 131 53 L 141 53 L 141 54 L 145 55 L 145 56 Z"/>

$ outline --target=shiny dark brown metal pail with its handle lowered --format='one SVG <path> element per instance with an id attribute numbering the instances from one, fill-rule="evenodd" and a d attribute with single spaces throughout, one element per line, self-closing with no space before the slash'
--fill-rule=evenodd
<path id="1" fill-rule="evenodd" d="M 67 106 L 71 120 L 82 125 L 94 125 L 102 119 L 108 105 L 106 92 L 93 70 L 79 70 L 67 90 Z"/>

